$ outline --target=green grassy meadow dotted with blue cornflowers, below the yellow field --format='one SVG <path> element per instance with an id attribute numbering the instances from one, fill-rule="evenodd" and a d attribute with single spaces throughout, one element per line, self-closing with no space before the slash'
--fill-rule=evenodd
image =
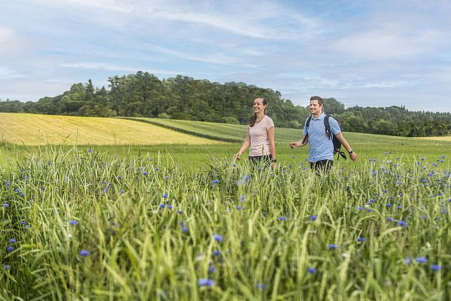
<path id="1" fill-rule="evenodd" d="M 276 133 L 275 171 L 240 142 L 2 142 L 0 299 L 450 298 L 450 142 L 345 133 L 359 161 L 321 175 Z"/>

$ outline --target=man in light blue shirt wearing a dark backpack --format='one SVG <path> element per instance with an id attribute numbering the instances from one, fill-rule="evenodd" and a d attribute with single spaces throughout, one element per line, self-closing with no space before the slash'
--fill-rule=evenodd
<path id="1" fill-rule="evenodd" d="M 326 126 L 324 125 L 324 118 L 326 114 L 323 113 L 323 99 L 319 96 L 312 96 L 310 98 L 310 112 L 311 120 L 307 129 L 307 120 L 304 125 L 304 135 L 302 139 L 297 142 L 290 142 L 290 147 L 303 147 L 310 144 L 309 161 L 310 167 L 316 171 L 328 171 L 333 164 L 333 141 L 332 138 L 326 134 Z M 350 154 L 352 161 L 357 160 L 357 154 L 352 151 L 349 143 L 341 133 L 338 121 L 329 117 L 330 131 L 341 142 L 347 152 Z M 308 135 L 307 135 L 308 134 Z"/>

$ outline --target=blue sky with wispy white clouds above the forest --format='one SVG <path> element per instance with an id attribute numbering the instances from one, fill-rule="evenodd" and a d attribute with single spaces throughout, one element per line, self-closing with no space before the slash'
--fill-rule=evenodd
<path id="1" fill-rule="evenodd" d="M 144 70 L 451 111 L 451 1 L 0 0 L 0 99 Z"/>

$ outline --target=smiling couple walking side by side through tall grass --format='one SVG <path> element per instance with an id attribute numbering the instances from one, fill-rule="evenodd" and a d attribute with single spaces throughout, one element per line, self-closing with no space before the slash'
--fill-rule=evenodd
<path id="1" fill-rule="evenodd" d="M 254 116 L 249 118 L 247 137 L 235 157 L 239 160 L 249 147 L 249 159 L 252 164 L 260 163 L 277 168 L 274 123 L 266 116 L 268 102 L 259 97 L 254 100 L 252 107 Z M 292 149 L 303 147 L 308 143 L 310 167 L 316 171 L 328 171 L 333 165 L 334 140 L 338 140 L 350 154 L 350 159 L 356 161 L 357 154 L 352 151 L 341 133 L 338 121 L 323 113 L 323 99 L 319 96 L 311 97 L 309 109 L 311 116 L 304 123 L 303 137 L 297 142 L 290 142 L 290 147 Z"/>

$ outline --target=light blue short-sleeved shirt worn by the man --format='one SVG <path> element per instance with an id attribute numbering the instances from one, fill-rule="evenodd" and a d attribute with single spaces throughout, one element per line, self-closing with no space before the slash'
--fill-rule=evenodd
<path id="1" fill-rule="evenodd" d="M 326 126 L 324 125 L 325 113 L 321 113 L 318 118 L 311 116 L 309 124 L 309 161 L 316 162 L 321 160 L 333 160 L 333 142 L 326 135 Z M 329 116 L 330 131 L 333 135 L 341 132 L 338 121 Z M 304 123 L 304 135 L 307 135 L 307 120 Z"/>

